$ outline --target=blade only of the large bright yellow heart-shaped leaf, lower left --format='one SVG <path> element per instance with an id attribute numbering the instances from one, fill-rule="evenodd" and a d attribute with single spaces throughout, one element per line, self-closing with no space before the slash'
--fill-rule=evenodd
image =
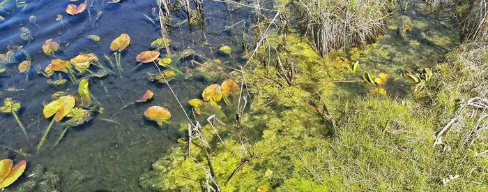
<path id="1" fill-rule="evenodd" d="M 68 95 L 68 96 L 61 96 L 55 101 L 44 106 L 43 114 L 45 118 L 49 118 L 54 115 L 54 121 L 61 121 L 63 117 L 68 115 L 71 112 L 73 107 L 75 107 L 75 97 Z"/>

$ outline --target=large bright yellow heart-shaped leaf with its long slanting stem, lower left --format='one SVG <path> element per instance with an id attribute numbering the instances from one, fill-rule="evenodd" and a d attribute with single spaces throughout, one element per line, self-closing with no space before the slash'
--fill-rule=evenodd
<path id="1" fill-rule="evenodd" d="M 75 107 L 75 96 L 67 95 L 67 96 L 60 96 L 58 99 L 52 101 L 51 103 L 44 106 L 43 114 L 45 118 L 52 117 L 51 123 L 47 126 L 46 131 L 44 132 L 43 138 L 40 139 L 40 142 L 37 146 L 37 151 L 40 151 L 40 148 L 43 147 L 43 144 L 46 140 L 47 134 L 49 130 L 51 130 L 52 124 L 54 121 L 59 122 L 61 121 L 66 115 L 68 115 L 71 110 Z"/>

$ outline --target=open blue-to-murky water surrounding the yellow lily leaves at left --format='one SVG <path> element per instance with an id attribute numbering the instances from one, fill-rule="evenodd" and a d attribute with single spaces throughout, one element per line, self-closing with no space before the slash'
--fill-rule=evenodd
<path id="1" fill-rule="evenodd" d="M 164 154 L 168 147 L 176 143 L 180 137 L 178 123 L 185 119 L 183 110 L 167 86 L 149 82 L 144 77 L 144 72 L 158 72 L 153 64 L 143 65 L 135 72 L 130 72 L 137 65 L 137 54 L 149 50 L 151 42 L 161 36 L 159 23 L 156 21 L 153 24 L 143 15 L 151 15 L 151 10 L 157 8 L 156 1 L 124 0 L 113 4 L 107 1 L 86 1 L 89 6 L 75 16 L 66 14 L 66 6 L 70 3 L 73 2 L 27 1 L 25 8 L 0 9 L 0 15 L 6 18 L 6 21 L 0 22 L 0 53 L 5 53 L 8 45 L 22 45 L 32 58 L 29 80 L 26 80 L 26 74 L 18 73 L 18 62 L 6 66 L 10 74 L 0 75 L 2 103 L 6 97 L 22 103 L 19 116 L 29 133 L 29 140 L 25 140 L 12 115 L 1 115 L 0 145 L 22 149 L 31 154 L 24 157 L 1 148 L 0 158 L 12 158 L 15 162 L 26 159 L 28 163 L 24 176 L 36 173 L 33 177 L 21 177 L 7 191 L 140 191 L 139 176 L 148 171 L 151 163 Z M 74 3 L 78 5 L 81 2 Z M 193 29 L 194 32 L 189 32 L 188 24 L 171 29 L 171 51 L 178 53 L 191 48 L 199 54 L 199 57 L 192 59 L 199 61 L 203 61 L 204 57 L 230 61 L 230 64 L 241 61 L 236 55 L 241 52 L 238 43 L 242 42 L 243 27 L 249 24 L 248 11 L 211 1 L 204 5 L 204 10 L 207 10 L 205 31 Z M 100 11 L 101 16 L 96 20 Z M 56 14 L 63 15 L 62 23 L 56 22 Z M 39 27 L 29 22 L 31 15 L 36 16 Z M 174 23 L 181 23 L 185 15 L 174 14 L 173 18 Z M 241 20 L 243 22 L 232 26 Z M 21 27 L 30 29 L 33 40 L 29 42 L 20 38 Z M 131 45 L 121 57 L 124 69 L 122 75 L 111 74 L 102 79 L 90 79 L 91 94 L 100 101 L 104 112 L 96 114 L 82 126 L 71 128 L 63 141 L 51 149 L 61 133 L 61 128 L 54 124 L 43 149 L 36 154 L 35 146 L 50 122 L 50 119 L 43 117 L 43 104 L 52 101 L 51 94 L 56 91 L 76 94 L 77 84 L 68 81 L 66 85 L 54 87 L 47 84 L 47 79 L 36 74 L 34 69 L 45 68 L 55 58 L 69 60 L 79 52 L 93 52 L 107 66 L 103 62 L 103 54 L 112 57 L 109 45 L 122 33 L 129 34 L 131 38 Z M 100 42 L 93 42 L 88 38 L 89 35 L 100 36 Z M 59 40 L 61 44 L 62 51 L 56 53 L 55 57 L 47 57 L 41 48 L 49 38 Z M 236 55 L 227 57 L 218 54 L 218 47 L 222 45 L 233 47 Z M 165 55 L 164 49 L 161 52 Z M 22 61 L 22 56 L 17 60 Z M 183 72 L 193 68 L 188 61 L 177 61 L 176 64 Z M 170 82 L 189 113 L 191 109 L 186 101 L 199 98 L 208 84 L 215 83 L 207 82 L 208 79 L 201 76 L 199 71 L 195 71 L 192 76 L 181 75 Z M 16 91 L 7 91 L 8 88 Z M 120 109 L 142 96 L 146 89 L 155 93 L 154 101 Z M 143 112 L 151 105 L 168 108 L 172 114 L 170 122 L 174 125 L 160 128 L 153 121 L 144 119 Z"/>

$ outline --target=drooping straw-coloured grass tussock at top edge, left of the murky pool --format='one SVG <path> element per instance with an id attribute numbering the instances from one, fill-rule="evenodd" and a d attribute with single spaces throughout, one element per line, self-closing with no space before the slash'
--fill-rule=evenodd
<path id="1" fill-rule="evenodd" d="M 300 1 L 300 25 L 322 56 L 331 50 L 365 45 L 383 35 L 395 1 Z"/>

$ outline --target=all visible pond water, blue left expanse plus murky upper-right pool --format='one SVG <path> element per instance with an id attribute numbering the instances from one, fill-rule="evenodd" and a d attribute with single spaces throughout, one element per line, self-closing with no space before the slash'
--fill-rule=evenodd
<path id="1" fill-rule="evenodd" d="M 154 24 L 145 16 L 154 18 L 153 10 L 158 7 L 157 3 L 137 0 L 124 0 L 121 3 L 86 1 L 86 10 L 71 16 L 66 14 L 66 6 L 70 3 L 79 5 L 81 1 L 26 1 L 20 7 L 17 7 L 17 3 L 22 1 L 0 2 L 0 15 L 5 17 L 5 21 L 0 22 L 0 53 L 6 53 L 11 45 L 20 45 L 32 61 L 28 73 L 19 73 L 17 64 L 25 56 L 18 54 L 17 62 L 3 66 L 8 73 L 0 74 L 0 98 L 3 102 L 3 98 L 11 97 L 22 104 L 18 115 L 29 133 L 26 140 L 13 116 L 1 115 L 0 158 L 12 158 L 15 162 L 26 159 L 28 163 L 24 176 L 31 175 L 21 177 L 6 190 L 142 191 L 139 176 L 150 170 L 151 164 L 177 143 L 176 140 L 181 137 L 178 124 L 186 120 L 185 113 L 167 85 L 150 82 L 144 76 L 145 72 L 158 73 L 153 64 L 145 64 L 131 72 L 137 65 L 137 54 L 151 50 L 151 42 L 161 37 L 159 22 L 155 21 Z M 265 1 L 261 6 L 269 6 L 270 2 Z M 197 54 L 190 59 L 197 61 L 220 59 L 229 66 L 244 63 L 245 60 L 240 57 L 245 41 L 243 34 L 252 36 L 250 31 L 246 31 L 252 27 L 252 10 L 218 1 L 204 1 L 204 10 L 205 29 L 190 29 L 188 22 L 185 23 L 186 15 L 181 11 L 172 15 L 174 25 L 178 27 L 168 31 L 171 52 L 178 54 L 192 49 Z M 63 16 L 62 22 L 56 21 L 58 14 Z M 404 88 L 408 85 L 400 80 L 400 71 L 434 66 L 445 52 L 457 45 L 459 37 L 455 35 L 458 34 L 457 27 L 448 17 L 423 14 L 415 3 L 409 6 L 406 14 L 393 15 L 388 23 L 387 35 L 367 47 L 359 61 L 364 64 L 361 68 L 372 68 L 374 73 L 397 74 L 397 80 L 394 78 L 393 82 L 398 83 L 390 83 L 389 91 L 404 94 L 408 90 Z M 32 22 L 33 16 L 35 22 Z M 405 33 L 405 25 L 411 26 L 413 31 Z M 22 27 L 29 29 L 31 40 L 22 39 Z M 103 61 L 103 54 L 112 57 L 110 43 L 123 33 L 131 38 L 131 45 L 121 55 L 123 72 L 119 75 L 116 68 L 112 68 L 117 74 L 89 79 L 91 94 L 101 103 L 103 112 L 96 113 L 91 121 L 82 126 L 71 128 L 62 142 L 52 149 L 62 131 L 55 123 L 43 149 L 36 153 L 36 145 L 51 120 L 43 116 L 43 106 L 52 101 L 51 95 L 56 91 L 77 94 L 78 84 L 68 81 L 56 87 L 48 84 L 47 78 L 37 74 L 35 69 L 44 69 L 52 59 L 69 60 L 80 52 L 94 53 L 100 63 L 108 66 Z M 100 36 L 100 42 L 93 42 L 88 38 L 90 35 Z M 47 39 L 58 40 L 61 52 L 52 57 L 44 54 L 42 46 Z M 232 47 L 231 56 L 218 52 L 223 45 Z M 165 49 L 160 52 L 163 56 L 167 54 Z M 192 66 L 190 59 L 174 61 L 173 65 L 184 74 L 176 76 L 169 83 L 183 103 L 185 112 L 191 116 L 192 110 L 186 102 L 191 98 L 200 98 L 205 87 L 220 84 L 224 77 Z M 222 71 L 230 72 L 227 68 L 222 68 Z M 79 75 L 78 80 L 82 76 Z M 346 89 L 360 90 L 355 86 L 344 84 Z M 121 109 L 148 89 L 155 93 L 154 101 Z M 171 125 L 159 127 L 155 122 L 144 119 L 144 110 L 151 105 L 168 108 L 172 115 L 169 120 Z M 12 149 L 22 150 L 29 156 L 22 156 Z"/>

